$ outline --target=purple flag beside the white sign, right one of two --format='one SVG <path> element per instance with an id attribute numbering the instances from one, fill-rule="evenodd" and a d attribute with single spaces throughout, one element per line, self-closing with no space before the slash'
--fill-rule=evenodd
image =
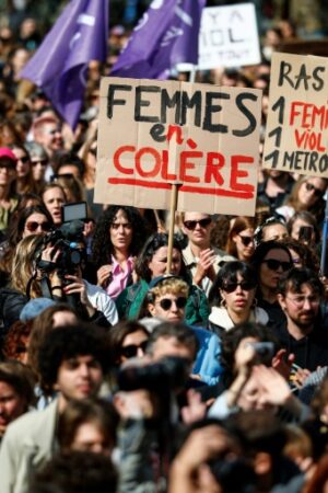
<path id="1" fill-rule="evenodd" d="M 206 0 L 153 0 L 110 76 L 167 79 L 176 64 L 198 62 L 198 36 Z"/>

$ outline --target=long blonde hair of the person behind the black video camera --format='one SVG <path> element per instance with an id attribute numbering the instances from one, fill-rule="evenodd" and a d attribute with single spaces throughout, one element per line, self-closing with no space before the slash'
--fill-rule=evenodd
<path id="1" fill-rule="evenodd" d="M 39 234 L 31 234 L 17 243 L 12 261 L 11 288 L 26 295 L 26 287 L 35 268 L 35 257 L 42 244 L 43 237 Z M 39 296 L 42 296 L 40 287 L 36 280 L 33 280 L 31 298 L 38 298 Z"/>

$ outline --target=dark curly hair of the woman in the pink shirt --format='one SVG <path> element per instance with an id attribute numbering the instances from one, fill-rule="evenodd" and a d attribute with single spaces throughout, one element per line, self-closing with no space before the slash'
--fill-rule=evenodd
<path id="1" fill-rule="evenodd" d="M 104 264 L 112 263 L 112 255 L 115 254 L 114 245 L 110 241 L 109 229 L 115 221 L 116 215 L 122 210 L 128 221 L 132 225 L 133 238 L 130 244 L 130 255 L 138 255 L 144 243 L 144 222 L 136 207 L 113 205 L 98 218 L 92 242 L 92 262 L 99 268 Z"/>

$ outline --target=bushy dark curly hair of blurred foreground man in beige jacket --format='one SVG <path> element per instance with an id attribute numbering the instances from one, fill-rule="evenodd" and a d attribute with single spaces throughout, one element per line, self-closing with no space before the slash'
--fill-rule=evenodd
<path id="1" fill-rule="evenodd" d="M 92 355 L 102 366 L 108 366 L 108 345 L 101 328 L 80 322 L 79 325 L 57 328 L 45 335 L 38 352 L 38 370 L 47 390 L 57 381 L 63 360 Z"/>

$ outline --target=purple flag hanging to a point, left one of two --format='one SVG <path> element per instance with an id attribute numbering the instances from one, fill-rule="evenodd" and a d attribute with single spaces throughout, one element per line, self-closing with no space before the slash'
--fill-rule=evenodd
<path id="1" fill-rule="evenodd" d="M 90 60 L 105 60 L 108 0 L 71 0 L 22 70 L 43 89 L 74 128 L 80 116 Z"/>

